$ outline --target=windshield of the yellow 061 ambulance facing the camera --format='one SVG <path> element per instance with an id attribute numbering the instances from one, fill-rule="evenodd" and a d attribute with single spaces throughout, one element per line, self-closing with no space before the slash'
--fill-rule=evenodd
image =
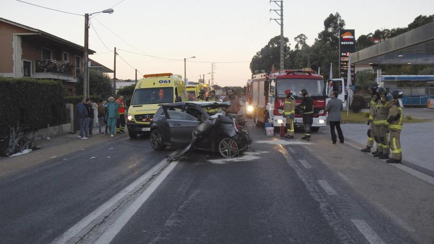
<path id="1" fill-rule="evenodd" d="M 136 89 L 131 105 L 168 104 L 173 102 L 173 87 L 155 87 Z"/>

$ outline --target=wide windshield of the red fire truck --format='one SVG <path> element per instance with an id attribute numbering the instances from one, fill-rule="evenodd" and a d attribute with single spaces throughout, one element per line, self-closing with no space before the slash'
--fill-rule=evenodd
<path id="1" fill-rule="evenodd" d="M 285 97 L 285 90 L 291 89 L 295 96 L 306 89 L 310 96 L 324 96 L 324 81 L 322 79 L 277 79 L 277 97 Z"/>

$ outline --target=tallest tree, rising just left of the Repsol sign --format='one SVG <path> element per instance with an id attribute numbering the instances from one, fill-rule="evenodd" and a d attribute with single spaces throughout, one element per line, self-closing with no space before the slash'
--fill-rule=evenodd
<path id="1" fill-rule="evenodd" d="M 330 14 L 324 20 L 324 31 L 318 34 L 318 40 L 322 43 L 330 43 L 332 47 L 339 47 L 339 30 L 345 28 L 345 21 L 341 15 L 336 12 L 334 15 Z"/>

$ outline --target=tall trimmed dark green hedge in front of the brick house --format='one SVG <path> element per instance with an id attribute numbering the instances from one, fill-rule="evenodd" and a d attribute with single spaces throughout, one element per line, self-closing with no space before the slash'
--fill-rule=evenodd
<path id="1" fill-rule="evenodd" d="M 0 77 L 0 129 L 18 122 L 31 129 L 65 122 L 65 89 L 54 80 Z"/>

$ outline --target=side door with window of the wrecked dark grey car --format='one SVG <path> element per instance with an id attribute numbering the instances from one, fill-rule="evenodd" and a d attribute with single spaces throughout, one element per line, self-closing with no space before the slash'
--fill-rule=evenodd
<path id="1" fill-rule="evenodd" d="M 185 108 L 183 106 L 167 109 L 171 144 L 175 147 L 188 145 L 192 138 L 191 133 L 201 123 L 200 114 L 189 113 L 191 109 Z"/>

